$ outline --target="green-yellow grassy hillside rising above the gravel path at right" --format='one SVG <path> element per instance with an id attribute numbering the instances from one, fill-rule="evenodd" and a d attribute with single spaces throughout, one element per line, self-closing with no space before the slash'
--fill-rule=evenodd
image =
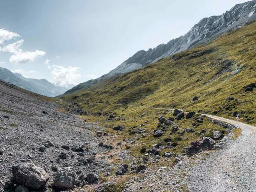
<path id="1" fill-rule="evenodd" d="M 255 22 L 208 44 L 62 98 L 78 102 L 90 112 L 121 108 L 94 104 L 102 102 L 180 108 L 232 118 L 238 115 L 241 121 L 255 123 L 256 89 L 244 91 L 252 83 L 256 83 Z M 199 99 L 192 101 L 193 96 Z M 228 96 L 234 100 L 227 100 Z"/>

